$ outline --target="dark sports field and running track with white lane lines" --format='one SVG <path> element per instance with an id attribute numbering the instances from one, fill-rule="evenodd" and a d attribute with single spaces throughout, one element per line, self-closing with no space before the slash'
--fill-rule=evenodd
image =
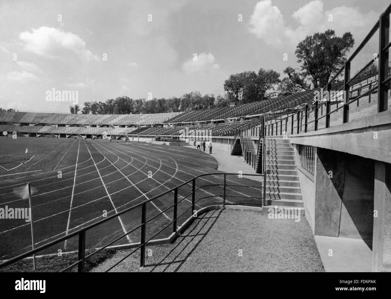
<path id="1" fill-rule="evenodd" d="M 27 173 L 1 173 L 0 208 L 29 207 L 27 197 L 20 198 L 20 189 L 30 182 L 34 243 L 38 247 L 75 230 L 104 219 L 123 209 L 159 195 L 179 184 L 205 173 L 216 173 L 216 160 L 207 153 L 184 148 L 113 140 L 2 138 L 0 156 L 23 155 L 29 148 Z M 25 154 L 24 154 L 25 155 Z M 35 164 L 33 166 L 33 164 Z M 17 172 L 23 172 L 22 169 Z M 61 173 L 59 173 L 61 171 Z M 222 184 L 222 175 L 197 178 L 197 187 Z M 230 203 L 259 204 L 260 187 L 243 187 L 260 183 L 237 175 L 227 176 L 226 195 Z M 178 201 L 189 195 L 191 184 L 178 190 Z M 196 209 L 222 203 L 222 186 L 207 186 L 196 193 L 200 200 Z M 245 196 L 239 198 L 237 196 Z M 147 220 L 173 204 L 170 192 L 147 204 Z M 191 206 L 191 196 L 178 204 L 178 215 Z M 191 216 L 187 211 L 178 225 Z M 86 249 L 97 248 L 129 232 L 140 224 L 141 208 L 115 217 L 86 234 Z M 173 218 L 173 209 L 165 211 L 147 224 L 147 239 L 163 229 Z M 32 248 L 30 223 L 24 219 L 0 219 L 0 259 L 8 259 Z M 172 226 L 155 238 L 164 238 Z M 135 243 L 140 240 L 140 229 L 113 245 Z M 77 238 L 68 239 L 40 254 L 77 250 Z"/>

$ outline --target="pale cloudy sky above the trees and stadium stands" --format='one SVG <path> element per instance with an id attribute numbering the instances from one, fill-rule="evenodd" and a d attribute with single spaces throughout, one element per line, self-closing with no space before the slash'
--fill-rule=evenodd
<path id="1" fill-rule="evenodd" d="M 119 96 L 224 95 L 230 74 L 260 68 L 284 77 L 315 32 L 350 31 L 361 43 L 386 0 L 0 1 L 0 107 L 69 112 L 47 92 L 78 102 Z M 352 71 L 377 53 L 378 33 Z M 352 52 L 351 51 L 351 52 Z M 285 59 L 284 59 L 285 57 Z"/>

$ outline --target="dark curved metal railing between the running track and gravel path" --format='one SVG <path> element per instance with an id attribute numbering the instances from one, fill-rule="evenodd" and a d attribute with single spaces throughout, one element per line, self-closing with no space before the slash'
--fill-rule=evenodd
<path id="1" fill-rule="evenodd" d="M 207 185 L 201 185 L 199 187 L 196 187 L 195 183 L 196 183 L 196 179 L 197 178 L 202 178 L 202 177 L 205 177 L 205 176 L 219 176 L 219 175 L 222 176 L 221 177 L 222 179 L 224 179 L 223 184 L 207 184 Z M 195 205 L 200 200 L 203 200 L 205 198 L 221 198 L 222 199 L 222 205 L 227 205 L 226 198 L 228 198 L 228 197 L 247 198 L 247 199 L 258 200 L 258 201 L 256 201 L 257 202 L 256 205 L 259 205 L 259 206 L 262 207 L 262 202 L 265 203 L 265 188 L 262 188 L 262 186 L 245 185 L 245 184 L 241 184 L 241 183 L 238 183 L 238 184 L 227 184 L 227 175 L 238 176 L 237 173 L 206 173 L 206 174 L 203 174 L 203 175 L 198 175 L 197 177 L 194 177 L 194 178 L 188 180 L 187 182 L 184 182 L 184 183 L 180 184 L 179 186 L 177 186 L 175 188 L 169 189 L 168 191 L 165 191 L 165 192 L 161 193 L 160 195 L 154 196 L 154 197 L 152 197 L 152 198 L 150 198 L 148 200 L 140 202 L 139 204 L 133 205 L 132 207 L 124 209 L 123 211 L 120 211 L 120 212 L 118 212 L 116 214 L 113 214 L 111 216 L 108 216 L 108 217 L 106 217 L 106 218 L 104 218 L 102 220 L 99 220 L 98 222 L 92 223 L 92 224 L 90 224 L 90 225 L 88 225 L 86 227 L 83 227 L 83 228 L 75 231 L 75 232 L 67 234 L 66 236 L 58 238 L 58 239 L 56 239 L 54 241 L 51 241 L 49 243 L 46 243 L 45 245 L 41 245 L 41 246 L 39 246 L 39 247 L 37 247 L 35 249 L 29 250 L 28 252 L 20 254 L 20 255 L 14 257 L 14 258 L 8 259 L 7 261 L 4 261 L 3 263 L 0 264 L 0 268 L 7 267 L 9 265 L 12 265 L 13 263 L 16 263 L 17 261 L 20 261 L 22 259 L 29 258 L 29 257 L 31 257 L 33 255 L 36 255 L 38 252 L 41 252 L 41 251 L 43 251 L 45 249 L 48 249 L 48 248 L 52 247 L 53 245 L 61 243 L 61 242 L 65 241 L 65 240 L 68 240 L 70 238 L 78 237 L 78 250 L 77 250 L 77 252 L 78 252 L 78 259 L 72 265 L 69 265 L 68 267 L 63 268 L 61 270 L 61 272 L 65 272 L 66 270 L 70 270 L 71 268 L 76 267 L 76 266 L 77 266 L 78 272 L 85 272 L 86 259 L 88 259 L 91 256 L 97 254 L 101 250 L 108 248 L 110 245 L 113 245 L 114 243 L 116 243 L 117 241 L 121 240 L 122 238 L 124 238 L 126 236 L 129 236 L 129 234 L 131 234 L 132 232 L 135 232 L 138 229 L 141 230 L 140 243 L 136 243 L 137 246 L 133 250 L 131 250 L 131 252 L 129 252 L 124 258 L 122 258 L 120 261 L 118 261 L 114 265 L 111 265 L 111 267 L 106 269 L 105 272 L 108 272 L 109 270 L 113 269 L 115 266 L 117 266 L 122 261 L 124 261 L 124 259 L 128 258 L 133 253 L 135 253 L 138 249 L 140 249 L 140 252 L 141 252 L 141 254 L 140 254 L 140 267 L 143 267 L 145 265 L 145 247 L 148 244 L 151 245 L 151 241 L 156 236 L 158 236 L 163 231 L 165 231 L 167 228 L 169 228 L 171 225 L 172 225 L 172 234 L 174 234 L 174 236 L 177 237 L 178 236 L 178 226 L 177 226 L 177 224 L 178 224 L 179 218 L 184 216 L 185 213 L 187 213 L 189 209 L 191 209 L 192 216 L 190 216 L 190 218 L 187 218 L 187 220 L 185 220 L 183 223 L 186 223 L 189 219 L 192 219 L 192 217 L 194 218 L 193 213 L 196 211 L 195 210 Z M 259 175 L 259 174 L 242 174 L 242 175 L 243 176 L 259 176 L 259 177 L 263 176 L 263 175 Z M 234 182 L 234 181 L 232 181 L 232 182 Z M 187 185 L 187 184 L 191 184 L 192 192 L 189 193 L 188 195 L 186 195 L 185 197 L 183 197 L 181 200 L 178 201 L 178 189 L 180 187 L 182 187 L 182 186 Z M 201 198 L 198 198 L 197 200 L 195 199 L 196 198 L 195 195 L 196 195 L 196 192 L 198 190 L 204 191 L 202 188 L 210 187 L 210 186 L 222 186 L 223 187 L 222 194 L 216 195 L 216 194 L 210 193 L 211 195 L 209 195 L 209 196 L 203 196 Z M 263 197 L 262 196 L 259 196 L 259 197 L 255 196 L 255 197 L 253 197 L 253 196 L 228 195 L 227 194 L 227 189 L 229 189 L 228 187 L 233 187 L 233 186 L 237 186 L 237 187 L 251 187 L 251 188 L 255 188 L 255 189 L 259 188 L 258 189 L 259 191 L 263 190 Z M 265 186 L 265 185 L 263 185 L 263 186 Z M 232 189 L 229 189 L 229 190 L 234 191 Z M 156 200 L 158 198 L 161 198 L 162 196 L 167 195 L 167 194 L 169 194 L 171 192 L 174 192 L 174 196 L 172 198 L 173 199 L 173 204 L 170 205 L 169 207 L 167 207 L 166 209 L 164 209 L 163 211 L 161 211 L 160 213 L 154 215 L 152 218 L 149 218 L 147 220 L 147 203 L 152 202 L 153 200 Z M 237 193 L 239 194 L 239 192 L 237 192 Z M 186 198 L 188 198 L 189 196 L 192 197 L 190 207 L 188 207 L 181 214 L 178 214 L 178 204 L 180 202 L 183 202 L 184 200 L 186 200 Z M 234 204 L 234 203 L 229 203 L 229 204 Z M 236 204 L 242 204 L 242 203 L 236 203 Z M 254 204 L 251 204 L 251 205 L 254 205 Z M 102 246 L 99 249 L 95 250 L 91 254 L 88 254 L 87 256 L 85 255 L 85 251 L 86 251 L 86 236 L 87 236 L 87 232 L 88 231 L 90 231 L 94 227 L 98 227 L 99 225 L 108 222 L 109 220 L 111 220 L 113 218 L 117 218 L 117 217 L 119 217 L 122 214 L 128 213 L 130 211 L 134 211 L 135 209 L 140 208 L 140 207 L 141 207 L 141 215 L 140 215 L 141 223 L 139 225 L 137 225 L 136 227 L 134 227 L 130 231 L 128 231 L 128 232 L 118 236 L 114 240 L 106 243 L 104 246 Z M 150 223 L 151 221 L 153 221 L 158 216 L 166 213 L 170 209 L 173 209 L 173 214 L 174 214 L 173 215 L 173 220 L 171 220 L 167 225 L 165 225 L 165 227 L 160 229 L 158 232 L 156 232 L 156 233 L 152 232 L 152 233 L 154 233 L 154 235 L 152 237 L 148 238 L 148 240 L 146 240 L 147 224 Z M 168 239 L 169 238 L 167 238 L 167 240 Z M 169 241 L 167 241 L 167 243 L 169 243 Z"/>

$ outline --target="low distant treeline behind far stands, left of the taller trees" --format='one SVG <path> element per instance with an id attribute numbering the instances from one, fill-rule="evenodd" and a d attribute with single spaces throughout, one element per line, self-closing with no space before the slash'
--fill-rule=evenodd
<path id="1" fill-rule="evenodd" d="M 213 94 L 201 95 L 199 91 L 184 94 L 181 97 L 170 97 L 168 99 L 131 99 L 129 97 L 117 97 L 108 99 L 105 102 L 84 102 L 84 107 L 79 105 L 70 106 L 71 113 L 83 114 L 146 114 L 166 113 L 187 110 L 208 109 L 213 107 L 224 107 L 229 105 L 227 97 Z"/>

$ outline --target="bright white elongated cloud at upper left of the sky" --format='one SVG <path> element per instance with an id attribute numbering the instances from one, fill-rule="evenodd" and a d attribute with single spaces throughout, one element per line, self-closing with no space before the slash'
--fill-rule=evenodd
<path id="1" fill-rule="evenodd" d="M 61 29 L 39 27 L 32 32 L 25 31 L 19 34 L 25 42 L 25 50 L 51 59 L 64 59 L 64 56 L 73 53 L 81 59 L 98 60 L 98 56 L 86 49 L 86 43 L 72 32 Z"/>

